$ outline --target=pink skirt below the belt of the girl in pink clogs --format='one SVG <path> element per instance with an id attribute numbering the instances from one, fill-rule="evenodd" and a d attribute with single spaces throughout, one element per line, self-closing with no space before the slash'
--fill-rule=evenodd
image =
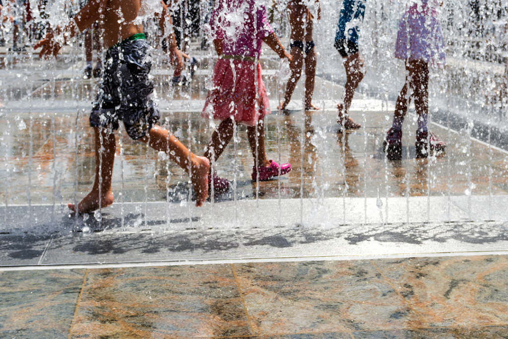
<path id="1" fill-rule="evenodd" d="M 254 67 L 257 67 L 257 78 Z M 261 79 L 261 65 L 246 60 L 218 59 L 213 69 L 213 88 L 208 91 L 201 116 L 216 120 L 233 118 L 238 124 L 255 126 L 267 114 L 270 114 L 270 102 Z"/>

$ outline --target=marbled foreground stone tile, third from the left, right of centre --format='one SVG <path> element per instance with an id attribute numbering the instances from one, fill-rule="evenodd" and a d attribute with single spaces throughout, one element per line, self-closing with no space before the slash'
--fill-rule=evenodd
<path id="1" fill-rule="evenodd" d="M 368 261 L 235 264 L 258 335 L 418 327 Z"/>

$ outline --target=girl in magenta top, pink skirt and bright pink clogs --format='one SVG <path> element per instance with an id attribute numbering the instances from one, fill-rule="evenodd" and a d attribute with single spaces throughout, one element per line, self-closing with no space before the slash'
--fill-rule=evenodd
<path id="1" fill-rule="evenodd" d="M 233 137 L 236 124 L 247 125 L 254 166 L 252 180 L 268 180 L 291 170 L 290 164 L 267 160 L 263 118 L 270 103 L 261 79 L 259 57 L 264 41 L 280 58 L 291 61 L 267 21 L 266 9 L 256 0 L 216 0 L 210 18 L 211 34 L 219 59 L 213 69 L 213 88 L 208 92 L 202 116 L 221 120 L 213 132 L 205 157 L 216 161 Z M 212 175 L 209 180 L 211 182 Z M 215 191 L 229 183 L 213 178 Z"/>

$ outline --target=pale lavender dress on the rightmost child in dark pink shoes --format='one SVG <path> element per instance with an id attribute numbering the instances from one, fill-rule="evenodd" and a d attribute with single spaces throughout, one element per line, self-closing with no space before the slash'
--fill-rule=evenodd
<path id="1" fill-rule="evenodd" d="M 423 60 L 431 65 L 444 65 L 444 39 L 437 12 L 423 0 L 412 4 L 399 21 L 395 57 L 402 60 Z"/>

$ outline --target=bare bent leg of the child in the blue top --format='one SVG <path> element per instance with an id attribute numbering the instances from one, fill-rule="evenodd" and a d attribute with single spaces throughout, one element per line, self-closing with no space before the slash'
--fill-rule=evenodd
<path id="1" fill-rule="evenodd" d="M 361 127 L 360 124 L 356 124 L 349 117 L 348 113 L 353 97 L 355 96 L 355 90 L 363 79 L 362 67 L 363 58 L 359 53 L 347 56 L 344 60 L 344 68 L 346 70 L 346 84 L 344 85 L 345 95 L 344 103 L 339 103 L 337 105 L 337 109 L 339 110 L 337 122 L 346 129 L 358 129 Z"/>

